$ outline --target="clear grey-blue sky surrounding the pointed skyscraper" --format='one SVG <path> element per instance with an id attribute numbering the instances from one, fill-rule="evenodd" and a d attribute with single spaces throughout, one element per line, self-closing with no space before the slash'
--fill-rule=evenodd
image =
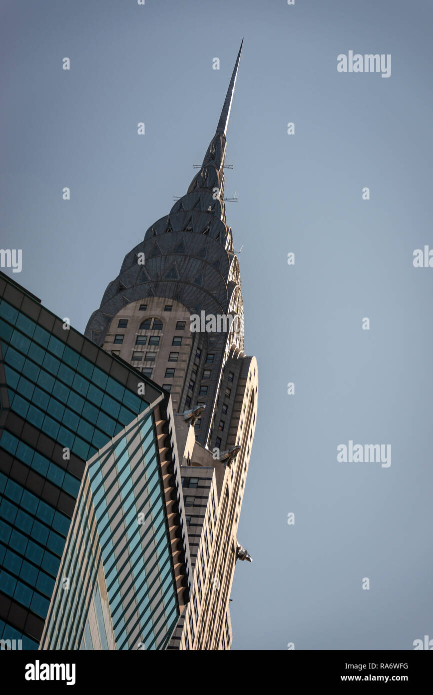
<path id="1" fill-rule="evenodd" d="M 1 246 L 22 248 L 13 277 L 81 331 L 187 190 L 244 36 L 226 195 L 239 191 L 227 216 L 259 414 L 238 536 L 254 562 L 235 573 L 233 648 L 433 637 L 433 268 L 412 265 L 433 248 L 432 3 L 0 8 Z M 340 74 L 349 50 L 391 54 L 391 77 Z M 350 439 L 391 444 L 391 466 L 339 464 Z"/>

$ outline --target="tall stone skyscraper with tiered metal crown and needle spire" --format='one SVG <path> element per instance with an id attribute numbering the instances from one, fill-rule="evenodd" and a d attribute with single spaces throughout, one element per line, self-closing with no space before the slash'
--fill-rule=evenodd
<path id="1" fill-rule="evenodd" d="M 193 557 L 191 600 L 171 649 L 230 648 L 235 562 L 251 561 L 237 525 L 256 424 L 257 362 L 244 353 L 239 262 L 224 202 L 241 50 L 200 170 L 125 256 L 85 332 L 171 393 Z M 210 320 L 194 330 L 194 316 Z"/>

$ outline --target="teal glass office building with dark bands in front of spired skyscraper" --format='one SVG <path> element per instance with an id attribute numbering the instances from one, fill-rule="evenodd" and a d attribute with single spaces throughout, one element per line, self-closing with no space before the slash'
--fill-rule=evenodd
<path id="1" fill-rule="evenodd" d="M 162 461 L 155 419 L 157 413 L 158 423 L 165 422 L 169 397 L 3 274 L 0 297 L 0 639 L 22 639 L 23 649 L 38 648 L 51 610 L 57 626 L 62 623 L 62 635 L 51 633 L 53 642 L 69 639 L 74 641 L 69 648 L 93 648 L 84 638 L 87 614 L 96 606 L 102 616 L 104 602 L 110 629 L 105 638 L 101 630 L 97 648 L 133 648 L 128 632 L 129 626 L 137 632 L 129 622 L 133 596 L 140 637 L 147 639 L 146 648 L 160 648 L 164 639 L 151 639 L 153 621 L 147 621 L 156 588 L 164 596 L 155 613 L 163 636 L 182 610 L 183 591 L 187 596 L 185 562 L 176 572 L 173 562 L 173 552 L 182 560 L 187 555 L 182 510 L 178 528 L 170 529 L 167 521 L 175 497 L 176 441 L 167 448 L 169 460 Z M 171 466 L 167 483 L 162 466 Z M 146 514 L 148 498 L 153 506 Z M 86 509 L 92 509 L 92 518 Z M 92 537 L 94 545 L 93 555 L 87 554 L 87 584 L 75 587 L 76 624 L 69 625 L 70 601 L 62 607 L 61 599 L 71 596 L 68 581 L 79 575 L 73 517 L 83 543 Z M 143 548 L 151 540 L 146 555 Z M 62 574 L 67 562 L 70 577 Z M 146 581 L 139 581 L 143 575 Z M 89 592 L 92 601 L 86 600 Z M 46 646 L 52 646 L 49 640 Z"/>

